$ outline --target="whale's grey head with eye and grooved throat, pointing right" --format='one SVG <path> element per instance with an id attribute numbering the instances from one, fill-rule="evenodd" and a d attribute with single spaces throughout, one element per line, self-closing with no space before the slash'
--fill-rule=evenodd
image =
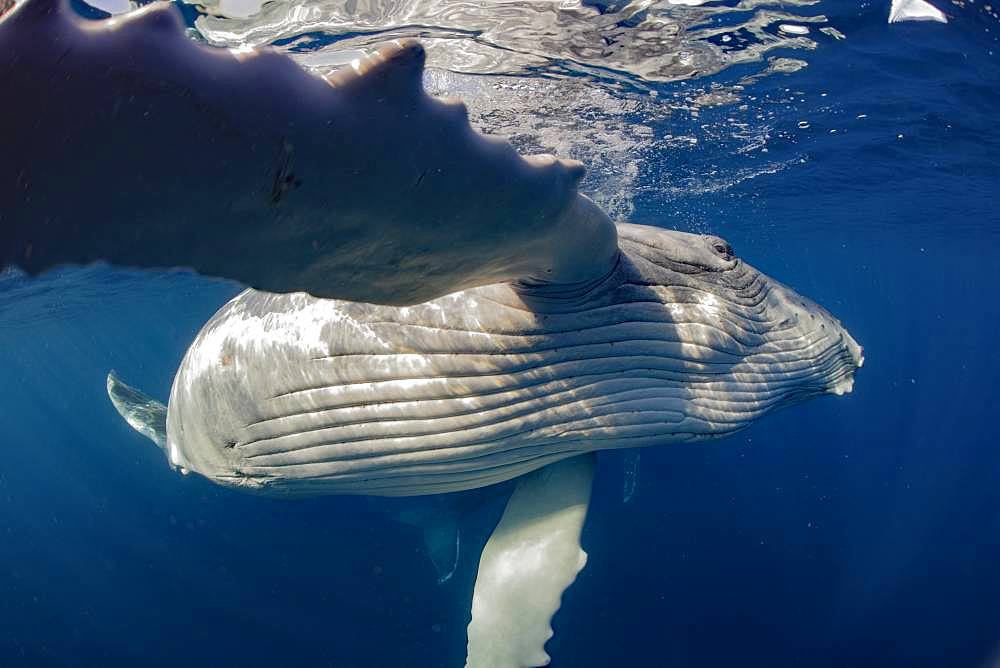
<path id="1" fill-rule="evenodd" d="M 860 345 L 829 311 L 740 258 L 724 239 L 619 225 L 617 301 L 653 299 L 677 341 L 668 380 L 693 437 L 725 435 L 774 409 L 851 392 Z M 645 293 L 643 297 L 642 294 Z"/>

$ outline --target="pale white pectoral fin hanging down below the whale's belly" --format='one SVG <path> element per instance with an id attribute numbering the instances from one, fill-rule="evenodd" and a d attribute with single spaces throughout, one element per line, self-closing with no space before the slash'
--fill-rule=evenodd
<path id="1" fill-rule="evenodd" d="M 580 532 L 593 479 L 587 454 L 519 480 L 479 560 L 467 668 L 548 665 L 552 616 L 587 563 Z"/>

